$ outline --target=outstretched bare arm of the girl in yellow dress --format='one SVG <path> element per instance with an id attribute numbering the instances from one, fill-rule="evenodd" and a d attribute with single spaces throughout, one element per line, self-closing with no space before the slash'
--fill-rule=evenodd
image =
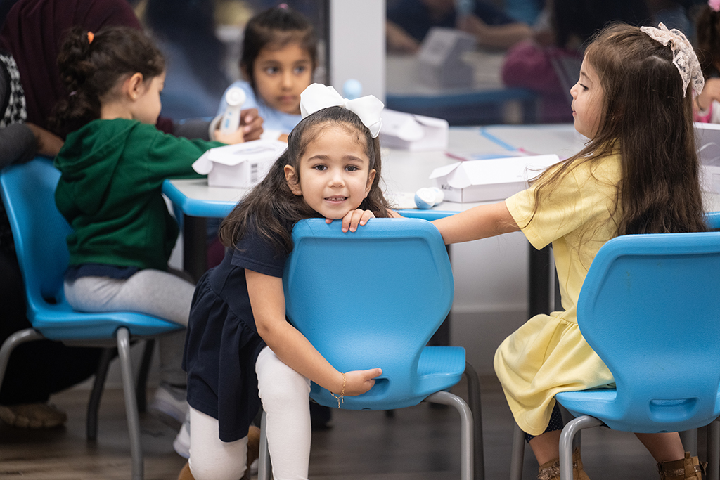
<path id="1" fill-rule="evenodd" d="M 459 214 L 433 220 L 446 244 L 468 242 L 520 230 L 505 201 L 474 207 Z"/>

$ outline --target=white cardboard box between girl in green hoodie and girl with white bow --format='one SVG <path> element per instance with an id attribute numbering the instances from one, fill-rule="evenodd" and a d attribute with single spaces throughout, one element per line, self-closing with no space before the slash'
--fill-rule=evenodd
<path id="1" fill-rule="evenodd" d="M 261 181 L 274 161 L 287 148 L 276 140 L 251 142 L 211 148 L 195 160 L 192 168 L 207 175 L 208 186 L 248 188 Z"/>

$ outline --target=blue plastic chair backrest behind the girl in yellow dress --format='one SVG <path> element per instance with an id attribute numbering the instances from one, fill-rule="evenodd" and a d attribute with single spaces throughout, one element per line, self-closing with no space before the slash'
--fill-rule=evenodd
<path id="1" fill-rule="evenodd" d="M 719 415 L 719 298 L 720 232 L 625 235 L 600 248 L 577 322 L 633 431 Z"/>

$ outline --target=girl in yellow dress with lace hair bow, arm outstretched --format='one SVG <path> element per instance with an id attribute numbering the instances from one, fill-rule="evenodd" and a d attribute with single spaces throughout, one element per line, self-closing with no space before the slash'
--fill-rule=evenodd
<path id="1" fill-rule="evenodd" d="M 706 230 L 692 123 L 693 91 L 702 86 L 696 55 L 678 30 L 606 27 L 570 89 L 575 130 L 590 139 L 585 148 L 530 189 L 433 222 L 446 243 L 517 230 L 535 248 L 552 243 L 562 311 L 531 318 L 495 353 L 495 372 L 540 464 L 540 479 L 559 478 L 562 418 L 555 394 L 613 383 L 575 316 L 595 254 L 617 235 Z M 697 458 L 686 458 L 678 433 L 636 436 L 662 479 L 701 479 Z M 574 468 L 575 479 L 588 478 L 579 451 Z"/>

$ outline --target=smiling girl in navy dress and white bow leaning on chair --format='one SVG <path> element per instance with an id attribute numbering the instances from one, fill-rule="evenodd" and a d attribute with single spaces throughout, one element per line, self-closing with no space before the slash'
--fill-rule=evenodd
<path id="1" fill-rule="evenodd" d="M 391 215 L 379 187 L 383 105 L 374 96 L 344 100 L 318 83 L 300 104 L 304 118 L 287 150 L 222 222 L 228 252 L 195 291 L 184 366 L 197 480 L 243 476 L 258 393 L 274 478 L 307 479 L 310 381 L 341 398 L 368 391 L 382 373 L 333 368 L 285 320 L 282 273 L 298 220 L 340 220 L 352 235 L 369 218 Z"/>

